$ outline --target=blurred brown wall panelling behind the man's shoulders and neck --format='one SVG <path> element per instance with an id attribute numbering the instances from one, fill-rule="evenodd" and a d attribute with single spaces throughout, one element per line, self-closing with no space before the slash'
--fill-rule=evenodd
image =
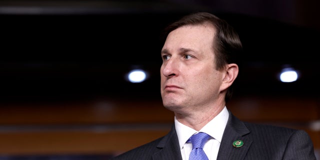
<path id="1" fill-rule="evenodd" d="M 320 149 L 316 99 L 237 97 L 242 120 L 304 129 Z M 167 133 L 173 113 L 160 101 L 92 100 L 0 105 L 0 154 L 115 155 Z"/>

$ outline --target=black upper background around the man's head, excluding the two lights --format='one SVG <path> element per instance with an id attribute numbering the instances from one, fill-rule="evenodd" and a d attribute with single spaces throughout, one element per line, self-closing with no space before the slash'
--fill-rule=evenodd
<path id="1" fill-rule="evenodd" d="M 160 99 L 161 31 L 193 11 L 209 11 L 238 31 L 244 53 L 234 96 L 318 97 L 316 1 L 133 0 L 0 2 L 0 101 L 96 97 Z M 283 66 L 300 72 L 277 79 Z M 143 68 L 149 77 L 129 83 Z"/>

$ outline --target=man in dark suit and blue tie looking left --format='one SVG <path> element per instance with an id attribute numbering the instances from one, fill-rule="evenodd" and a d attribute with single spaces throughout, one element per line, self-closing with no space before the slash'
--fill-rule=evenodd
<path id="1" fill-rule="evenodd" d="M 228 23 L 197 12 L 166 29 L 160 91 L 174 124 L 165 136 L 113 159 L 315 159 L 305 131 L 242 122 L 226 108 L 238 74 L 234 57 L 242 50 Z M 199 140 L 191 135 L 203 132 L 208 140 L 193 154 L 193 141 Z"/>

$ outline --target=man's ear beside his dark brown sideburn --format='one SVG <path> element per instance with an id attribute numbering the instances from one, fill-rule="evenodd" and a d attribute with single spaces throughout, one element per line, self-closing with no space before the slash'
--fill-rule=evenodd
<path id="1" fill-rule="evenodd" d="M 223 79 L 220 86 L 221 91 L 225 90 L 233 83 L 236 76 L 238 75 L 238 72 L 239 72 L 239 67 L 235 63 L 230 63 L 225 66 L 224 74 L 222 77 Z"/>

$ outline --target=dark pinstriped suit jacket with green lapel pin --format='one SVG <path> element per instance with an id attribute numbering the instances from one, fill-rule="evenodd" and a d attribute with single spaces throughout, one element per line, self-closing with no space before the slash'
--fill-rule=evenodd
<path id="1" fill-rule="evenodd" d="M 233 147 L 235 140 L 243 146 Z M 168 134 L 129 150 L 112 160 L 182 160 L 174 125 Z M 229 111 L 217 159 L 306 159 L 314 160 L 313 143 L 303 130 L 242 122 Z"/>

